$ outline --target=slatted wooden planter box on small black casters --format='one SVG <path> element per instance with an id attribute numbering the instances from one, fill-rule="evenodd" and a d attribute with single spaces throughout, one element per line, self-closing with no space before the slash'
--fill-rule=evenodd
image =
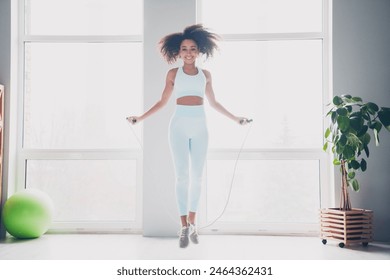
<path id="1" fill-rule="evenodd" d="M 353 208 L 340 210 L 339 208 L 321 209 L 322 243 L 328 239 L 339 241 L 343 248 L 351 244 L 362 243 L 367 246 L 372 242 L 373 211 Z"/>

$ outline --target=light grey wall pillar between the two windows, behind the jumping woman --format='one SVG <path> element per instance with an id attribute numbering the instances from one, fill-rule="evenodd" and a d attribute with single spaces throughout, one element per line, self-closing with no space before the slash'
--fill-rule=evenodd
<path id="1" fill-rule="evenodd" d="M 195 0 L 145 0 L 144 103 L 149 109 L 161 98 L 168 65 L 157 51 L 166 34 L 194 24 Z M 143 232 L 145 236 L 176 236 L 180 227 L 175 201 L 175 178 L 168 144 L 168 124 L 174 109 L 167 107 L 144 122 Z"/>

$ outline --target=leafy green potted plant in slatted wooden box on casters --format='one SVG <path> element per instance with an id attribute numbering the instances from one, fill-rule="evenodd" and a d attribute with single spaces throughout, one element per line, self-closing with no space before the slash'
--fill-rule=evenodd
<path id="1" fill-rule="evenodd" d="M 360 242 L 367 245 L 372 241 L 373 213 L 352 208 L 348 191 L 349 187 L 360 189 L 356 173 L 367 169 L 371 139 L 378 146 L 383 127 L 390 131 L 390 108 L 351 95 L 335 96 L 330 106 L 323 150 L 331 149 L 333 164 L 340 166 L 341 198 L 339 208 L 321 210 L 322 242 L 326 244 L 326 239 L 331 238 L 339 240 L 340 247 Z"/>

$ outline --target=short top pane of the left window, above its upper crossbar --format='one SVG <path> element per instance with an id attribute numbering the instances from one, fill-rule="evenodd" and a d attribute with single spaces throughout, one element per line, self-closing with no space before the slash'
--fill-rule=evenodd
<path id="1" fill-rule="evenodd" d="M 142 0 L 26 0 L 26 34 L 142 34 Z"/>

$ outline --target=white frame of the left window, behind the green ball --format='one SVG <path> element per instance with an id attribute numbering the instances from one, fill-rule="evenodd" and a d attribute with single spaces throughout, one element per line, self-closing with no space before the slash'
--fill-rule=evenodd
<path id="1" fill-rule="evenodd" d="M 136 161 L 136 213 L 131 222 L 55 222 L 51 232 L 134 232 L 142 229 L 142 150 L 141 149 L 33 149 L 23 147 L 24 134 L 24 55 L 29 42 L 50 43 L 142 43 L 142 35 L 121 36 L 51 36 L 25 34 L 25 1 L 18 0 L 18 128 L 15 190 L 26 188 L 28 160 L 135 160 Z M 142 104 L 141 104 L 142 106 Z M 141 148 L 141 147 L 140 147 Z M 104 206 L 103 206 L 104 207 Z"/>

